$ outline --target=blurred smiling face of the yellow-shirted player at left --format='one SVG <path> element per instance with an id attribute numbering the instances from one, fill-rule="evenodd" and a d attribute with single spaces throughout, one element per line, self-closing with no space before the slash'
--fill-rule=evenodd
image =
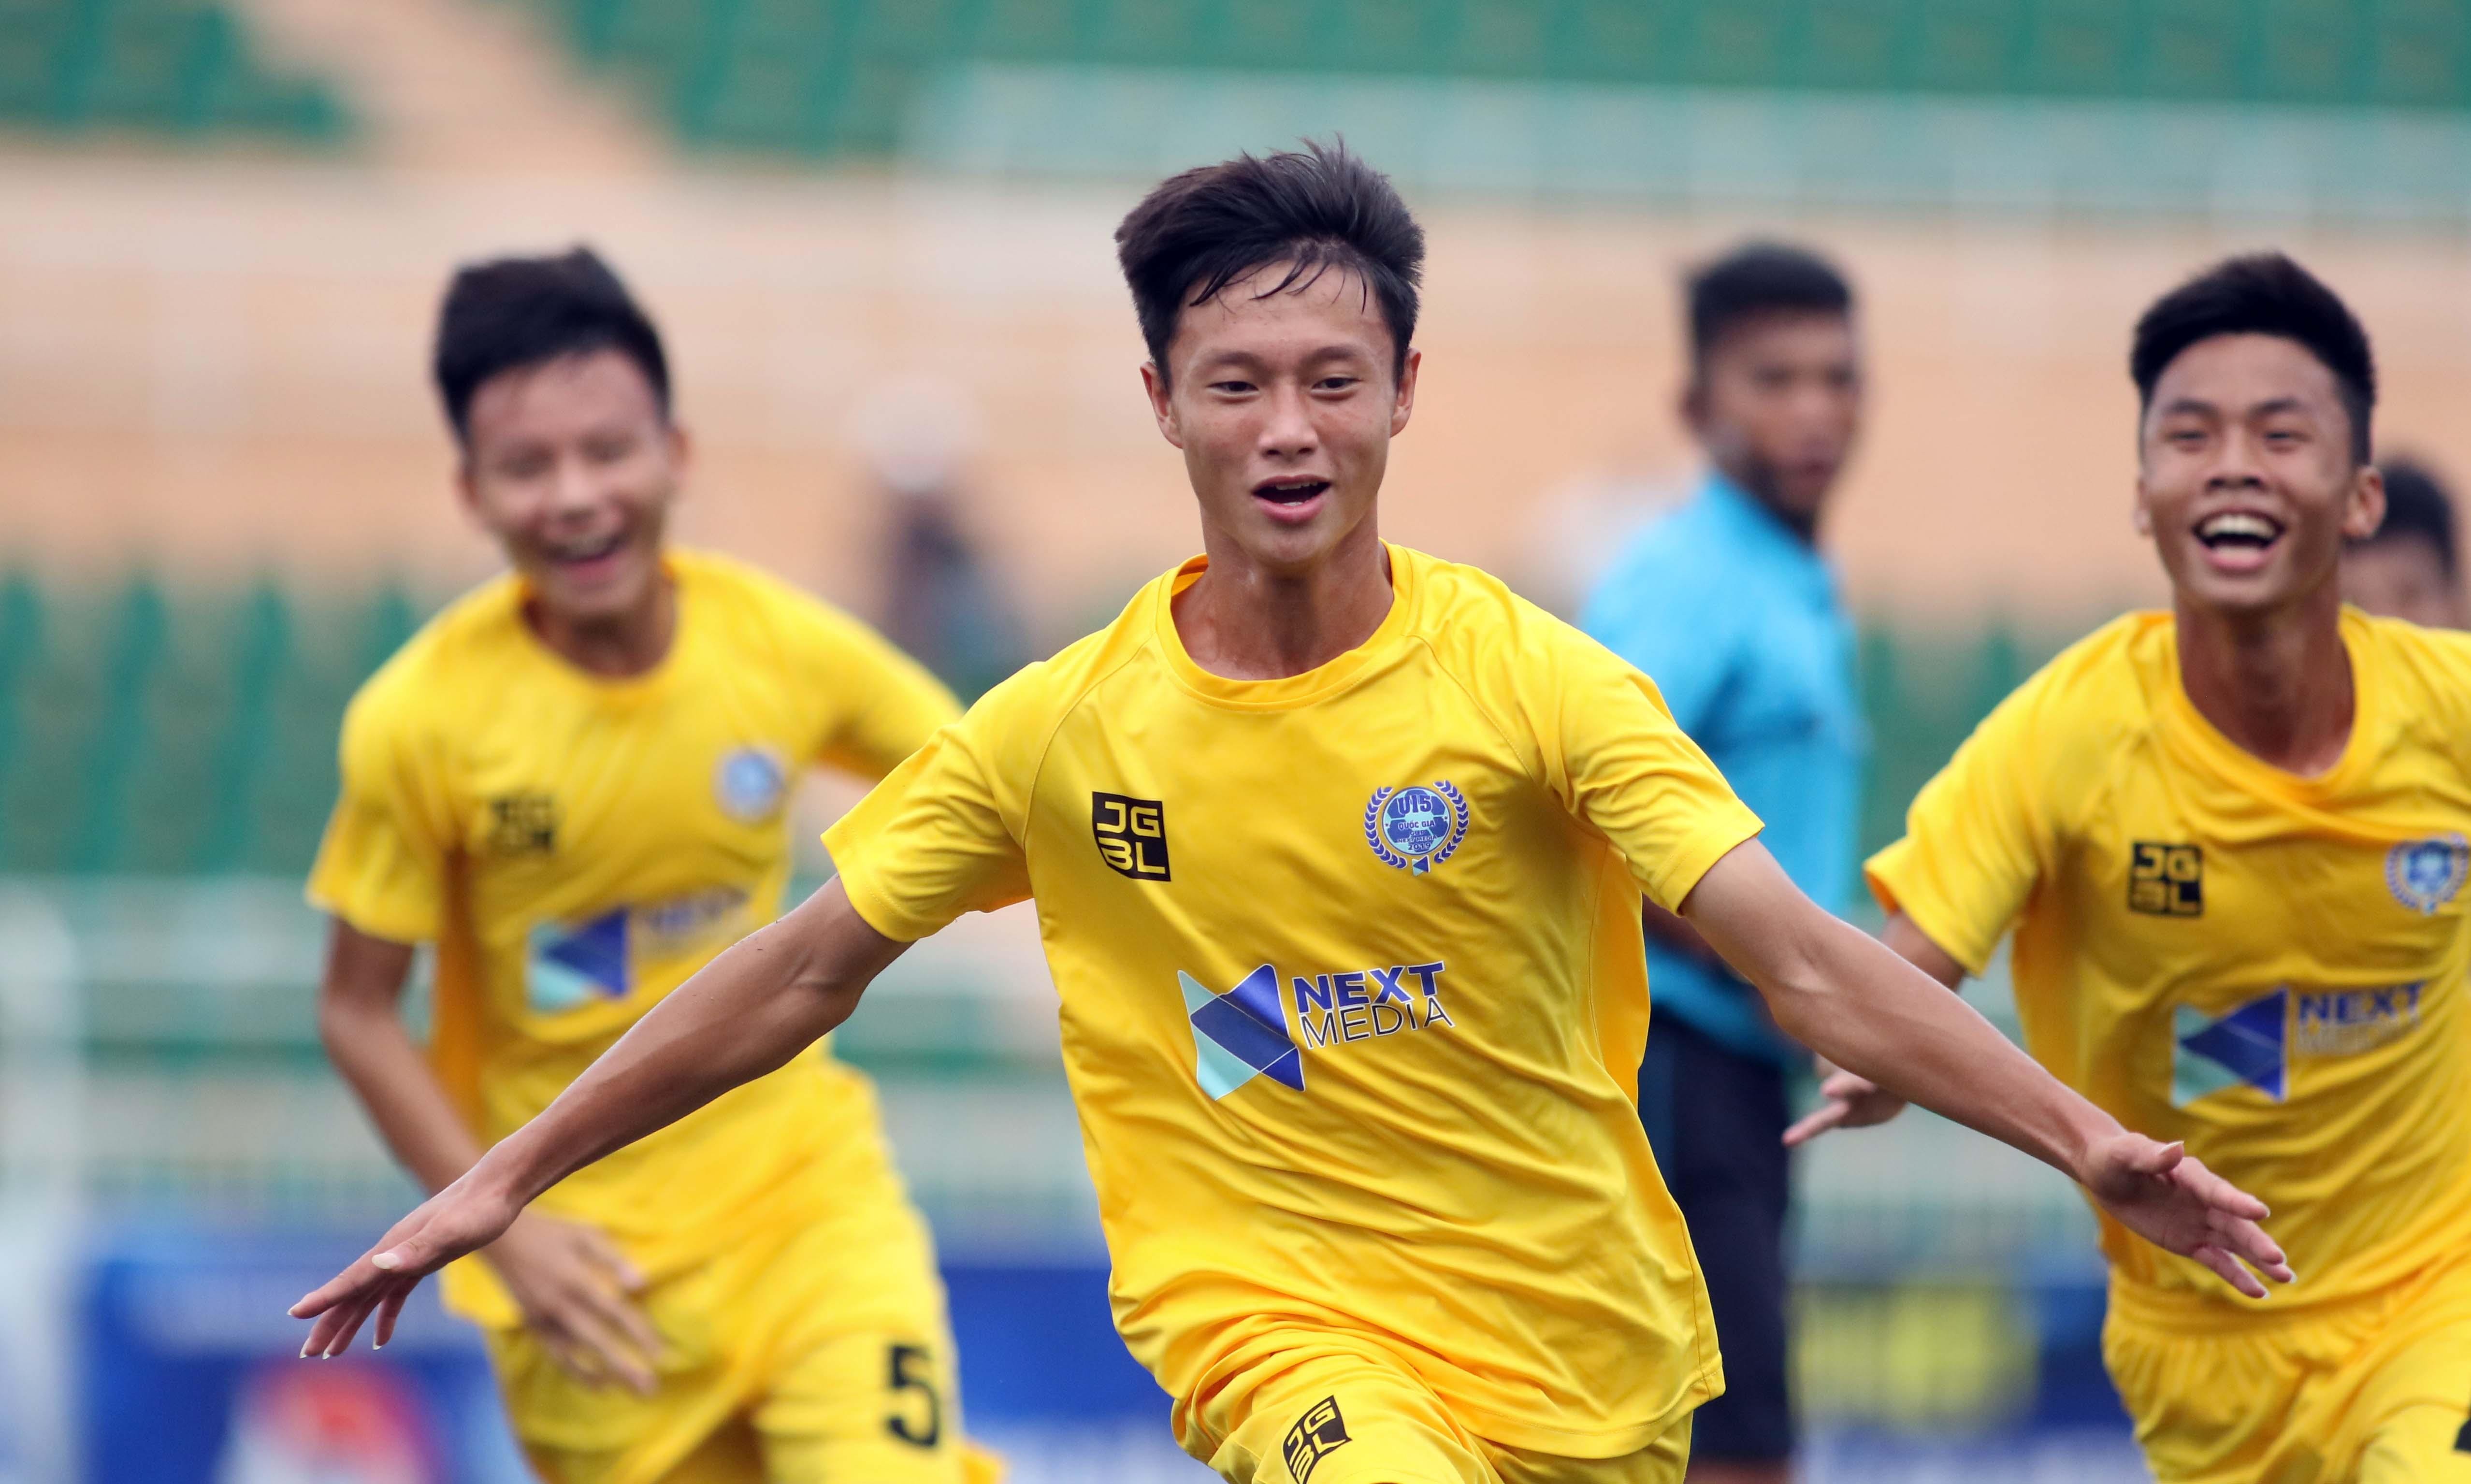
<path id="1" fill-rule="evenodd" d="M 618 351 L 502 370 L 472 395 L 460 486 L 541 612 L 605 625 L 657 602 L 687 440 Z"/>

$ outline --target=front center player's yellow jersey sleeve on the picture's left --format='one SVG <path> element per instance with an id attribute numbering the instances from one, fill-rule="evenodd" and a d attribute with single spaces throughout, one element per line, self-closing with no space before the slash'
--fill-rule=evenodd
<path id="1" fill-rule="evenodd" d="M 937 731 L 823 835 L 850 906 L 914 943 L 1030 894 L 1030 780 L 1045 731 L 1033 664 Z"/>

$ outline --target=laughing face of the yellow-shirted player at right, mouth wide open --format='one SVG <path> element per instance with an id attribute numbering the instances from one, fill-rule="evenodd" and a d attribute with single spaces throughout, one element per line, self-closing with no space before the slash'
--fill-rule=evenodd
<path id="1" fill-rule="evenodd" d="M 2385 519 L 2333 370 L 2283 336 L 2197 341 L 2155 380 L 2137 531 L 2182 602 L 2256 615 L 2330 593 L 2343 541 Z"/>

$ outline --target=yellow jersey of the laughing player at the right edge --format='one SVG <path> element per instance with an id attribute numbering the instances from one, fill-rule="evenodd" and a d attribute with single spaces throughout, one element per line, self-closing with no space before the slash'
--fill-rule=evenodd
<path id="1" fill-rule="evenodd" d="M 2016 923 L 2026 1047 L 2273 1207 L 2301 1282 L 2377 1289 L 2471 1240 L 2471 640 L 2343 612 L 2357 714 L 2320 778 L 2258 763 L 2123 617 L 2009 696 L 1871 859 L 1967 970 Z M 2239 1304 L 2105 1227 L 2123 1304 Z"/>

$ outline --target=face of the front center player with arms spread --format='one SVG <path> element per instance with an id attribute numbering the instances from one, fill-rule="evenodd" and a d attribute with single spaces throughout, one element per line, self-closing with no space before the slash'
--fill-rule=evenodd
<path id="1" fill-rule="evenodd" d="M 1371 543 L 1389 440 L 1416 405 L 1418 353 L 1391 375 L 1396 338 L 1364 279 L 1327 269 L 1300 289 L 1268 264 L 1186 306 L 1166 375 L 1142 368 L 1149 407 L 1201 499 L 1213 568 L 1243 561 L 1305 575 Z"/>

